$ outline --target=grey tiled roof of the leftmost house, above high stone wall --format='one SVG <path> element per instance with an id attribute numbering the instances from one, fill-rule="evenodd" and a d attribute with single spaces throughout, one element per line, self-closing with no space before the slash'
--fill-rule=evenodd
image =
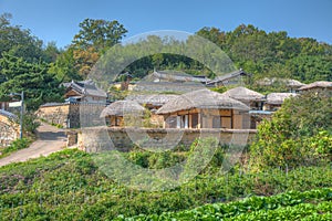
<path id="1" fill-rule="evenodd" d="M 71 87 L 76 91 L 79 94 L 97 96 L 97 97 L 107 97 L 106 92 L 98 88 L 92 80 L 81 81 L 81 82 L 69 82 L 62 84 L 68 90 Z"/>

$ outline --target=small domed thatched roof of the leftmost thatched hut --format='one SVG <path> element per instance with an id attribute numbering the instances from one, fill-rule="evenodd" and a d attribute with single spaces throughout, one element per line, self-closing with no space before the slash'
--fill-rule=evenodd
<path id="1" fill-rule="evenodd" d="M 145 108 L 134 101 L 117 101 L 110 104 L 101 113 L 101 117 L 124 116 L 126 114 L 143 115 Z"/>

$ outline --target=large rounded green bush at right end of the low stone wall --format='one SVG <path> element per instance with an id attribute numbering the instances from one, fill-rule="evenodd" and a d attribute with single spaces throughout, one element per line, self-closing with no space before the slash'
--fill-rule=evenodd
<path id="1" fill-rule="evenodd" d="M 286 101 L 272 119 L 258 128 L 258 140 L 251 146 L 256 169 L 331 161 L 331 117 L 329 92 L 305 93 Z"/>

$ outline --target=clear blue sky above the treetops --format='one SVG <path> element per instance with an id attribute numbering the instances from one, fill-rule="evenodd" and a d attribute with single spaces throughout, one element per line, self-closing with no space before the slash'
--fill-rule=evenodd
<path id="1" fill-rule="evenodd" d="M 117 20 L 127 36 L 156 30 L 194 33 L 203 27 L 231 31 L 250 23 L 331 44 L 331 10 L 332 0 L 0 0 L 0 13 L 12 13 L 13 24 L 61 48 L 85 18 Z"/>

